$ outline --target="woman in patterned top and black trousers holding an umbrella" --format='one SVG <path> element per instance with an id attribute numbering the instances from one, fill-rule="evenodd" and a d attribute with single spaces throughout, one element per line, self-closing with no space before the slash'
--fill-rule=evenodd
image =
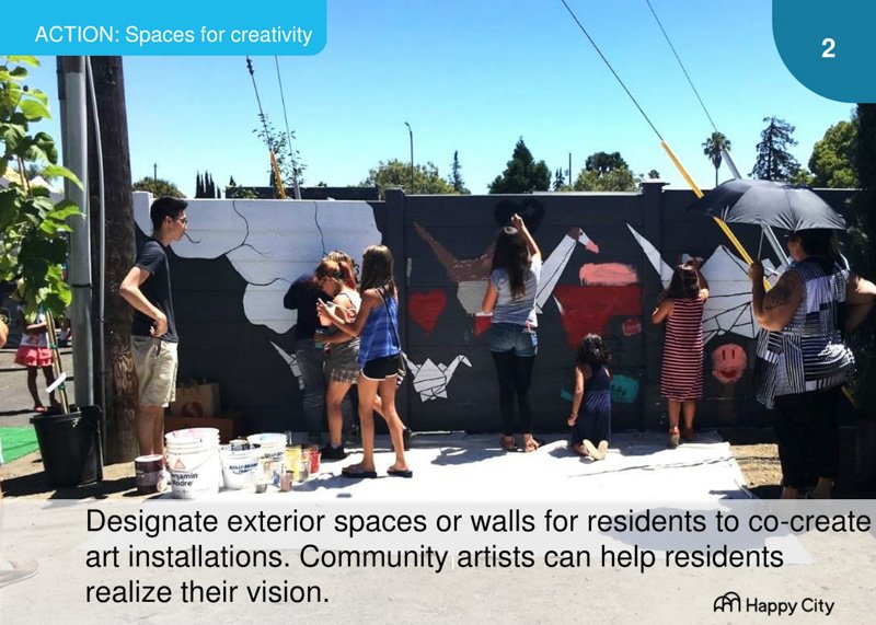
<path id="1" fill-rule="evenodd" d="M 760 261 L 748 270 L 754 317 L 768 331 L 758 338 L 765 361 L 758 401 L 776 410 L 783 499 L 812 484 L 816 498 L 831 496 L 839 467 L 835 407 L 855 364 L 843 336 L 876 298 L 876 286 L 844 267 L 834 242 L 823 228 L 789 234 L 793 262 L 769 292 Z"/>

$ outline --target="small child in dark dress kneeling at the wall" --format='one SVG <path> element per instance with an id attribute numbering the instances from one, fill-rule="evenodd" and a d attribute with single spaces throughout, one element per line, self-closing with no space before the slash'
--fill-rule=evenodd
<path id="1" fill-rule="evenodd" d="M 575 397 L 568 416 L 569 449 L 602 460 L 611 440 L 611 373 L 602 337 L 588 334 L 575 356 Z M 595 445 L 593 442 L 597 444 Z"/>

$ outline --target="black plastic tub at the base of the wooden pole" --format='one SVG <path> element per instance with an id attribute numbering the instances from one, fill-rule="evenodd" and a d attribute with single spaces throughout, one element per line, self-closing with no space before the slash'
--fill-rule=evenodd
<path id="1" fill-rule="evenodd" d="M 53 487 L 103 479 L 100 406 L 82 406 L 67 415 L 36 415 L 31 423 Z"/>

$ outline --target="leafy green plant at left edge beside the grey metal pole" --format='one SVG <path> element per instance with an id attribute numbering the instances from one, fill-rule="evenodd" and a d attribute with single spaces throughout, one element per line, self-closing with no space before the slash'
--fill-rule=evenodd
<path id="1" fill-rule="evenodd" d="M 26 66 L 26 67 L 25 67 Z M 38 67 L 35 57 L 0 57 L 0 172 L 12 167 L 19 181 L 0 189 L 0 281 L 24 279 L 25 313 L 43 306 L 62 314 L 70 303 L 64 280 L 67 259 L 67 220 L 81 215 L 71 201 L 51 201 L 48 189 L 32 186 L 27 167 L 35 165 L 46 176 L 61 176 L 80 185 L 59 166 L 55 140 L 46 132 L 31 132 L 31 125 L 49 118 L 48 96 L 24 84 L 27 67 Z M 76 227 L 87 227 L 76 221 Z"/>

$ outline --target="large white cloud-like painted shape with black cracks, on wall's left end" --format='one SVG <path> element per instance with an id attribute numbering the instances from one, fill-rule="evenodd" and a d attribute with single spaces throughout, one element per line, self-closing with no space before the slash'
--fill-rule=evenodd
<path id="1" fill-rule="evenodd" d="M 134 218 L 152 231 L 150 195 L 134 194 Z M 365 201 L 290 201 L 189 199 L 188 232 L 171 244 L 182 258 L 227 257 L 246 280 L 246 319 L 277 334 L 296 323 L 298 313 L 283 306 L 283 297 L 298 276 L 309 274 L 326 252 L 344 250 L 360 257 L 381 242 L 374 212 Z"/>

